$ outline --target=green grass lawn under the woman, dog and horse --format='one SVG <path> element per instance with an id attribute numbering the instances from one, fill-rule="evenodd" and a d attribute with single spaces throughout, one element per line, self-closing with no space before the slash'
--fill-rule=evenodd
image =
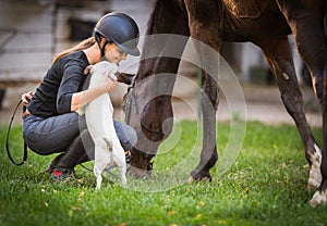
<path id="1" fill-rule="evenodd" d="M 55 155 L 29 151 L 26 164 L 12 165 L 4 149 L 7 127 L 2 127 L 0 225 L 327 225 L 327 208 L 308 204 L 313 196 L 306 190 L 308 165 L 295 127 L 247 123 L 232 167 L 221 175 L 219 161 L 211 171 L 213 183 L 189 185 L 190 172 L 198 162 L 197 133 L 196 123 L 178 124 L 160 147 L 150 179 L 129 178 L 122 188 L 107 173 L 101 190 L 96 191 L 93 174 L 81 166 L 76 167 L 78 179 L 50 181 L 40 172 Z M 219 123 L 220 154 L 229 133 L 229 124 Z M 314 134 L 319 140 L 320 129 Z M 13 128 L 10 145 L 19 161 L 23 152 L 20 126 Z"/>

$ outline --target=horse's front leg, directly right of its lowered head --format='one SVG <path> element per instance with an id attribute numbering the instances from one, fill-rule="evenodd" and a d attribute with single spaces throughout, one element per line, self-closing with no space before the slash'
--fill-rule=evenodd
<path id="1" fill-rule="evenodd" d="M 190 181 L 210 181 L 211 175 L 209 170 L 218 160 L 216 150 L 216 112 L 218 108 L 218 52 L 221 45 L 219 16 L 222 13 L 217 12 L 217 9 L 222 8 L 218 8 L 208 1 L 185 1 L 185 4 L 189 12 L 191 37 L 202 43 L 196 42 L 195 50 L 199 54 L 202 62 L 203 149 L 201 161 L 191 173 Z M 205 45 L 208 45 L 217 52 L 208 50 Z"/>

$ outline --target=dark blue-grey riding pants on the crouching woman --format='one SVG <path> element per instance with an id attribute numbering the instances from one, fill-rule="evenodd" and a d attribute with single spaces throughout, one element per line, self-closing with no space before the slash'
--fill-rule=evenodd
<path id="1" fill-rule="evenodd" d="M 135 130 L 119 122 L 114 122 L 114 128 L 124 150 L 132 149 L 137 141 Z M 74 168 L 78 163 L 94 160 L 94 142 L 85 117 L 75 112 L 48 118 L 27 116 L 23 136 L 28 148 L 38 154 L 62 153 L 59 167 Z"/>

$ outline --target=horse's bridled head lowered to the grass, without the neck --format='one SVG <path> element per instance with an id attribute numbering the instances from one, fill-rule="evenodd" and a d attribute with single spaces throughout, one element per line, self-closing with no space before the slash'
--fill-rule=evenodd
<path id="1" fill-rule="evenodd" d="M 124 76 L 131 77 L 128 74 Z M 172 129 L 171 96 L 162 95 L 158 88 L 158 84 L 164 83 L 162 79 L 166 79 L 167 84 L 171 78 L 160 76 L 157 79 L 153 76 L 150 79 L 131 79 L 132 85 L 124 96 L 122 109 L 125 122 L 137 134 L 137 143 L 131 150 L 130 170 L 136 177 L 144 177 L 150 173 L 153 158 Z"/>

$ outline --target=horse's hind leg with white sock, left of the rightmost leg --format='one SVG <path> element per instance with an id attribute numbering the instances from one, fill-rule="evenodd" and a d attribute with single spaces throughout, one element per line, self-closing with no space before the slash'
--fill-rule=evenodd
<path id="1" fill-rule="evenodd" d="M 308 187 L 317 187 L 322 180 L 319 170 L 322 155 L 304 114 L 303 98 L 296 79 L 288 38 L 287 36 L 278 39 L 269 38 L 258 41 L 257 45 L 267 58 L 276 76 L 283 104 L 294 120 L 302 138 L 305 158 L 311 166 Z"/>

